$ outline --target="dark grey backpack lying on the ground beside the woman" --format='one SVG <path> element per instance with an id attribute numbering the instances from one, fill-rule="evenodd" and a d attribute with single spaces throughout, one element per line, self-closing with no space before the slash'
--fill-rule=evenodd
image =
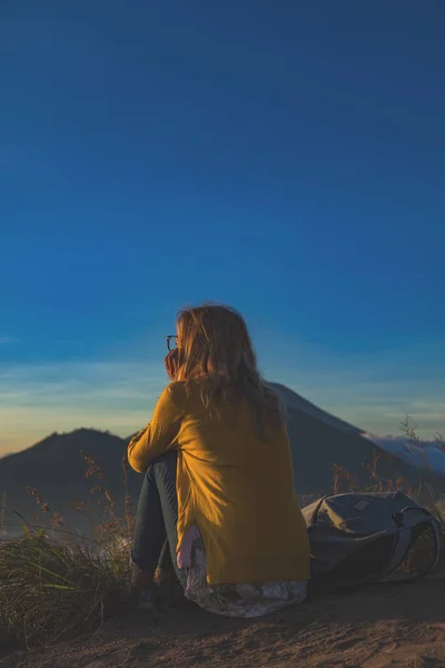
<path id="1" fill-rule="evenodd" d="M 377 582 L 424 578 L 438 562 L 438 521 L 403 492 L 324 497 L 301 509 L 310 542 L 310 579 L 324 589 L 363 588 Z M 421 536 L 431 531 L 433 548 L 424 568 L 397 573 Z"/>

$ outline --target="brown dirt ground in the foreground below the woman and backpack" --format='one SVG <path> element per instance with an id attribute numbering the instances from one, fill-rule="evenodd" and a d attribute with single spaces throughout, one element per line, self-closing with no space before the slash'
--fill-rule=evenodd
<path id="1" fill-rule="evenodd" d="M 107 622 L 90 638 L 0 658 L 0 668 L 445 667 L 445 578 L 235 620 L 191 603 Z"/>

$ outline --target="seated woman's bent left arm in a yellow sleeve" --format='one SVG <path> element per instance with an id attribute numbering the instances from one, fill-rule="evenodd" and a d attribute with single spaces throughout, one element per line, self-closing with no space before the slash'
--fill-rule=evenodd
<path id="1" fill-rule="evenodd" d="M 144 473 L 151 460 L 176 446 L 185 407 L 182 384 L 171 383 L 160 395 L 151 422 L 128 445 L 128 462 L 135 471 Z"/>

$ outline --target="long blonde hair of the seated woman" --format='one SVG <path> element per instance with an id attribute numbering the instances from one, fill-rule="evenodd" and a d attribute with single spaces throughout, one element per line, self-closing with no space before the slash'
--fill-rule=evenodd
<path id="1" fill-rule="evenodd" d="M 205 304 L 177 315 L 178 366 L 175 380 L 201 384 L 201 399 L 218 414 L 218 400 L 245 397 L 253 411 L 258 435 L 266 428 L 283 428 L 284 409 L 278 395 L 261 377 L 243 316 L 229 306 Z"/>

